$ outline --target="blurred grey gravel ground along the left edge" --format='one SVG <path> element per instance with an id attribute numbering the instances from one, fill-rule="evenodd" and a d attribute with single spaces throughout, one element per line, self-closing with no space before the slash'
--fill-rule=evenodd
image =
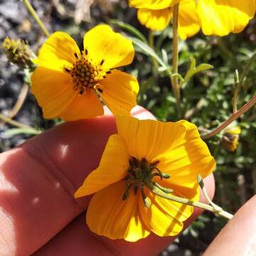
<path id="1" fill-rule="evenodd" d="M 35 7 L 42 15 L 45 14 L 48 4 L 46 1 L 34 1 Z M 26 27 L 27 24 L 27 27 Z M 26 39 L 31 46 L 37 41 L 40 35 L 36 24 L 28 15 L 22 1 L 6 0 L 0 1 L 0 41 L 4 41 L 6 36 L 9 38 Z M 0 112 L 9 114 L 14 106 L 21 87 L 23 85 L 23 74 L 16 65 L 7 62 L 3 50 L 0 48 Z M 16 115 L 16 120 L 23 124 L 33 126 L 36 120 L 35 103 L 33 97 L 28 95 L 26 102 Z M 5 138 L 3 132 L 9 125 L 0 126 L 0 150 L 5 151 L 18 144 L 21 144 L 28 136 L 18 135 Z"/>

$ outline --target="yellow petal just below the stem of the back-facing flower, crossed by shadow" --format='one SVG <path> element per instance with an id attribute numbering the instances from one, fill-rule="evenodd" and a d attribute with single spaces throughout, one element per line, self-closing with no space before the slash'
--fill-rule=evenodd
<path id="1" fill-rule="evenodd" d="M 193 213 L 193 207 L 181 203 L 174 203 L 159 198 L 152 193 L 146 193 L 151 206 L 146 208 L 142 200 L 139 201 L 139 210 L 145 225 L 159 236 L 174 236 L 183 229 L 182 220 L 186 220 Z"/>

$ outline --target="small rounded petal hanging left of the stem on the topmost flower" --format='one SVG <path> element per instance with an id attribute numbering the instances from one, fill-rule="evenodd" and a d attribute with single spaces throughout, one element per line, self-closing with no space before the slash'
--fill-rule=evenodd
<path id="1" fill-rule="evenodd" d="M 161 31 L 168 26 L 171 20 L 171 9 L 151 10 L 139 9 L 137 12 L 138 20 L 142 25 L 153 31 Z"/>

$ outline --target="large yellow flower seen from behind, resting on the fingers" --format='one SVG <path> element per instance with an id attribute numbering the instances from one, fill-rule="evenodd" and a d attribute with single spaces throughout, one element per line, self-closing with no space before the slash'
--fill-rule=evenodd
<path id="1" fill-rule="evenodd" d="M 198 201 L 197 174 L 206 177 L 215 167 L 208 147 L 196 126 L 184 120 L 117 116 L 117 129 L 100 165 L 75 193 L 75 198 L 95 193 L 87 225 L 98 235 L 132 242 L 151 232 L 177 235 L 193 207 L 156 196 L 149 188 Z"/>

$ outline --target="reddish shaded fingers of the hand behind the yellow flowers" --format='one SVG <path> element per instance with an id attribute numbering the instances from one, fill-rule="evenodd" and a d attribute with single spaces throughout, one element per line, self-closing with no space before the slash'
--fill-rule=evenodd
<path id="1" fill-rule="evenodd" d="M 142 107 L 132 114 L 154 119 Z M 1 256 L 157 255 L 174 240 L 151 234 L 139 242 L 125 242 L 88 230 L 85 210 L 90 197 L 75 199 L 73 194 L 97 167 L 108 137 L 116 132 L 114 117 L 106 111 L 103 117 L 60 124 L 0 154 Z M 205 183 L 213 197 L 213 176 Z M 206 202 L 203 196 L 201 201 Z M 195 208 L 185 226 L 201 213 Z M 213 242 L 208 255 L 215 255 L 211 251 L 221 242 Z"/>

